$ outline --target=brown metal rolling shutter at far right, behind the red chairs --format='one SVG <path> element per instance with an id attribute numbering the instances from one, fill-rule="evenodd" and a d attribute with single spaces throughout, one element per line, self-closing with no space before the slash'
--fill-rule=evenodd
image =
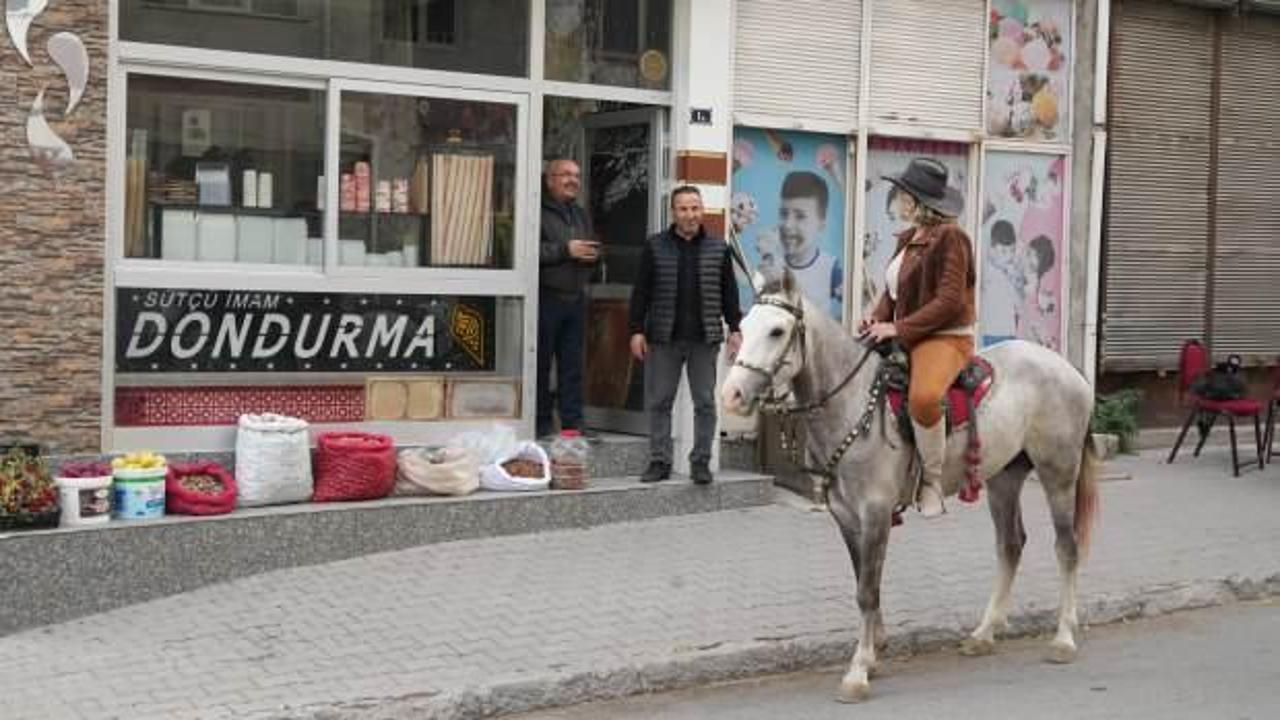
<path id="1" fill-rule="evenodd" d="M 1280 352 L 1280 18 L 1224 18 L 1215 352 Z"/>

